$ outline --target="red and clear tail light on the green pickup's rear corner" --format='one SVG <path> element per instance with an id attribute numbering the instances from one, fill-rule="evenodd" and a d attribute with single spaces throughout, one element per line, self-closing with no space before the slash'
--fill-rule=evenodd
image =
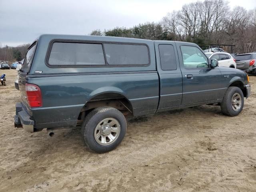
<path id="1" fill-rule="evenodd" d="M 26 95 L 30 107 L 42 107 L 42 94 L 37 85 L 26 84 Z"/>

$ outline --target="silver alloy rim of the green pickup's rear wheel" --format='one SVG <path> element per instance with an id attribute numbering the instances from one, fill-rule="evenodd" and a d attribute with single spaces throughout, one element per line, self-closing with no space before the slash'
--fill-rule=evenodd
<path id="1" fill-rule="evenodd" d="M 114 118 L 105 118 L 100 121 L 94 130 L 94 139 L 100 145 L 110 145 L 120 134 L 120 123 Z"/>

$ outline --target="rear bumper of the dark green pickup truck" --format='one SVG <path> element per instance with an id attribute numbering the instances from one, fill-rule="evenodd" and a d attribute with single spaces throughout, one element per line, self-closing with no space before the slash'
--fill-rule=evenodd
<path id="1" fill-rule="evenodd" d="M 14 116 L 14 126 L 22 126 L 27 132 L 34 132 L 35 122 L 30 119 L 29 114 L 24 110 L 22 103 L 16 103 L 16 115 Z"/>

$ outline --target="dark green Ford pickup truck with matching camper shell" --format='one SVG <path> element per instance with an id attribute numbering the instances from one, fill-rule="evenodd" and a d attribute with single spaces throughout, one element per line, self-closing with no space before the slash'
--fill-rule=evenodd
<path id="1" fill-rule="evenodd" d="M 85 144 L 96 152 L 118 146 L 127 116 L 203 104 L 236 116 L 250 95 L 245 72 L 218 67 L 196 44 L 107 36 L 40 36 L 18 83 L 16 126 L 52 135 L 82 125 Z"/>

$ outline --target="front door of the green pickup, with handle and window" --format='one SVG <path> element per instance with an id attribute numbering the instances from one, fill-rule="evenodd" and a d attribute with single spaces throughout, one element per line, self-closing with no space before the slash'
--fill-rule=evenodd
<path id="1" fill-rule="evenodd" d="M 182 105 L 221 99 L 222 75 L 218 67 L 210 68 L 210 60 L 202 50 L 186 42 L 176 42 L 183 79 Z"/>

